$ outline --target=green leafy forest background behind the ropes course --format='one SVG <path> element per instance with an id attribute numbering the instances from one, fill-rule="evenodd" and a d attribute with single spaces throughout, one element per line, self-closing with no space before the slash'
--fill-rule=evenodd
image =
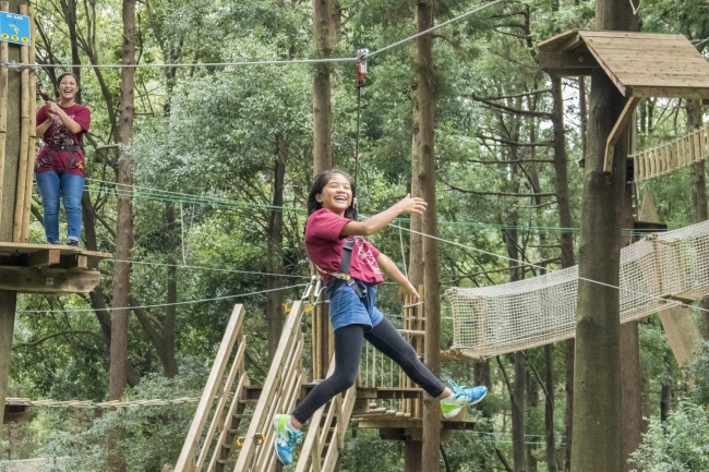
<path id="1" fill-rule="evenodd" d="M 93 117 L 86 138 L 82 245 L 116 253 L 117 196 L 132 199 L 128 295 L 135 307 L 129 318 L 130 388 L 124 398 L 200 396 L 235 303 L 247 308 L 247 368 L 257 383 L 265 378 L 284 304 L 300 296 L 310 277 L 302 233 L 313 170 L 316 66 L 202 64 L 319 57 L 312 4 L 298 0 L 136 4 L 136 62 L 193 65 L 136 69 L 133 136 L 129 145 L 117 146 L 121 71 L 96 65 L 122 58 L 121 2 L 33 3 L 36 61 L 84 65 L 65 68 L 80 76 L 79 101 L 92 109 Z M 434 5 L 436 23 L 480 4 L 440 0 Z M 376 50 L 410 36 L 416 33 L 414 12 L 410 0 L 340 0 L 331 55 L 352 57 L 357 49 Z M 707 52 L 706 1 L 645 0 L 638 15 L 641 31 L 684 34 Z M 584 158 L 588 82 L 553 81 L 536 62 L 536 47 L 561 32 L 592 25 L 590 1 L 533 0 L 494 7 L 434 33 L 440 235 L 526 263 L 513 265 L 441 243 L 443 290 L 532 277 L 539 274 L 532 265 L 549 269 L 568 265 L 562 245 L 580 231 L 582 169 L 577 162 Z M 53 88 L 61 70 L 43 69 L 39 78 Z M 351 62 L 329 70 L 333 158 L 337 168 L 351 172 L 357 75 Z M 369 60 L 361 90 L 358 181 L 364 216 L 411 190 L 416 85 L 416 43 Z M 635 123 L 638 148 L 689 131 L 696 117 L 695 104 L 686 100 L 644 100 Z M 117 190 L 119 157 L 134 174 L 130 195 Z M 562 178 L 562 169 L 566 177 Z M 697 192 L 696 171 L 684 169 L 636 189 L 638 194 L 650 191 L 660 220 L 670 229 L 707 218 L 698 201 L 706 199 L 706 191 Z M 568 202 L 566 210 L 560 208 L 563 202 Z M 41 242 L 36 192 L 33 215 L 31 239 Z M 398 223 L 408 227 L 409 220 Z M 372 241 L 401 269 L 410 266 L 407 231 L 389 228 Z M 108 398 L 115 263 L 101 264 L 103 282 L 89 295 L 20 296 L 10 396 Z M 265 290 L 275 291 L 250 294 Z M 380 300 L 384 313 L 399 323 L 396 286 L 384 285 Z M 442 316 L 442 344 L 447 348 L 453 334 L 445 300 Z M 704 316 L 696 317 L 706 332 Z M 441 469 L 567 470 L 567 351 L 560 343 L 548 351 L 532 349 L 524 358 L 445 363 L 445 378 L 485 384 L 491 392 L 480 407 L 480 427 L 456 433 L 442 445 Z M 650 317 L 640 324 L 640 354 L 648 433 L 636 463 L 646 471 L 709 470 L 709 428 L 700 408 L 709 399 L 709 350 L 700 350 L 693 368 L 681 370 L 657 317 Z M 695 391 L 686 388 L 688 377 L 698 387 Z M 551 391 L 544 388 L 549 380 Z M 553 464 L 548 462 L 550 431 L 544 425 L 550 402 Z M 105 470 L 109 433 L 120 424 L 127 434 L 118 447 L 127 469 L 160 470 L 175 462 L 194 407 L 105 413 L 38 409 L 32 423 L 3 429 L 1 459 L 57 457 L 61 461 L 47 470 Z M 524 421 L 514 422 L 514 432 L 512 417 L 520 411 Z M 515 450 L 525 451 L 521 459 Z M 350 433 L 340 470 L 398 471 L 401 463 L 401 444 L 361 429 Z"/>

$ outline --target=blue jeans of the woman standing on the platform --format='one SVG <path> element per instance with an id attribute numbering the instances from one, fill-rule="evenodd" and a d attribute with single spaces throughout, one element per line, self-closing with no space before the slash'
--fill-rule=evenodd
<path id="1" fill-rule="evenodd" d="M 84 193 L 85 179 L 81 176 L 57 172 L 37 172 L 37 186 L 45 209 L 45 235 L 49 243 L 59 242 L 59 194 L 64 199 L 67 210 L 67 242 L 79 241 L 81 237 L 81 195 Z"/>

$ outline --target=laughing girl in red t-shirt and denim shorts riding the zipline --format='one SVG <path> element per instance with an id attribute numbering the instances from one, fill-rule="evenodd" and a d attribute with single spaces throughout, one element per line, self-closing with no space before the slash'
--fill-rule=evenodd
<path id="1" fill-rule="evenodd" d="M 396 264 L 363 237 L 374 234 L 401 214 L 422 214 L 426 203 L 407 195 L 365 221 L 354 221 L 353 194 L 354 184 L 349 174 L 326 170 L 315 177 L 308 195 L 305 251 L 327 285 L 329 317 L 335 330 L 335 372 L 317 384 L 291 414 L 277 414 L 274 419 L 276 455 L 286 465 L 292 462 L 303 423 L 354 384 L 365 339 L 393 359 L 430 396 L 441 400 L 446 417 L 479 402 L 488 392 L 485 387 L 465 388 L 453 383 L 450 388 L 444 386 L 374 306 L 377 285 L 384 280 L 382 273 L 399 285 L 400 294 L 418 298 L 419 293 Z M 345 255 L 348 251 L 351 258 Z M 348 268 L 341 268 L 344 255 L 350 259 Z"/>

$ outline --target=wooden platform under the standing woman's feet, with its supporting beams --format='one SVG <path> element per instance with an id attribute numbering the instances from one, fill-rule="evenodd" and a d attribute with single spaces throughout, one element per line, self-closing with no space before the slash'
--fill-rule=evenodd
<path id="1" fill-rule="evenodd" d="M 0 290 L 88 293 L 100 281 L 98 263 L 110 253 L 55 244 L 0 243 Z"/>

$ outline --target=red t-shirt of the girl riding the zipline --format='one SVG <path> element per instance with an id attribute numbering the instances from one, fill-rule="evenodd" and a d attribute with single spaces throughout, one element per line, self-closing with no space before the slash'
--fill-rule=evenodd
<path id="1" fill-rule="evenodd" d="M 334 273 L 339 270 L 343 246 L 346 235 L 340 235 L 343 228 L 351 221 L 335 215 L 327 208 L 321 208 L 308 218 L 305 225 L 305 252 L 308 257 L 321 269 Z M 384 280 L 376 258 L 380 252 L 363 237 L 354 238 L 349 275 L 368 283 L 381 283 Z M 325 276 L 325 281 L 329 280 Z"/>

